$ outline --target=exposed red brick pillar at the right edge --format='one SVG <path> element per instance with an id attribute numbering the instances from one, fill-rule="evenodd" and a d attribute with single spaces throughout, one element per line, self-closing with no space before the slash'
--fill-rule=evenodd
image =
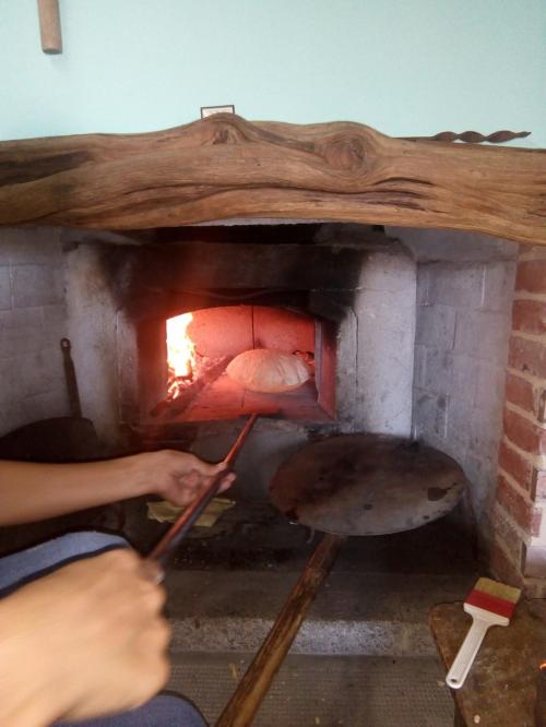
<path id="1" fill-rule="evenodd" d="M 522 247 L 512 307 L 491 569 L 546 596 L 546 249 Z"/>

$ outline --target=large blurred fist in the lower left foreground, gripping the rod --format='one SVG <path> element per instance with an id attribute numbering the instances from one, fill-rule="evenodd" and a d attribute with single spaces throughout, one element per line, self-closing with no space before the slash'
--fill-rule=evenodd
<path id="1" fill-rule="evenodd" d="M 129 549 L 61 568 L 0 601 L 2 726 L 84 719 L 154 696 L 169 675 L 164 601 Z"/>

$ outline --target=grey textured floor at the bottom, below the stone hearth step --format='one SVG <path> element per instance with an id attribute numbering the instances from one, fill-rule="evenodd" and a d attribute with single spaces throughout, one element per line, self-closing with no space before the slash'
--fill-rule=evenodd
<path id="1" fill-rule="evenodd" d="M 198 704 L 211 725 L 227 704 L 251 654 L 186 654 L 170 688 Z M 451 727 L 453 701 L 434 657 L 290 655 L 254 727 Z"/>

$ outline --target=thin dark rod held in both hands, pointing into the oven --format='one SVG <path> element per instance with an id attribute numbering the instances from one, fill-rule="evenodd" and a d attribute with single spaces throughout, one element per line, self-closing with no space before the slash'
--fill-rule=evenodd
<path id="1" fill-rule="evenodd" d="M 223 462 L 226 466 L 230 466 L 241 446 L 245 443 L 250 430 L 252 429 L 256 420 L 258 419 L 258 414 L 252 414 L 245 425 L 242 431 L 237 437 L 235 444 L 232 446 L 227 455 L 224 457 Z M 194 500 L 186 510 L 180 514 L 178 520 L 173 524 L 171 527 L 165 533 L 159 543 L 155 546 L 152 552 L 147 556 L 146 560 L 154 560 L 165 564 L 165 560 L 168 558 L 169 553 L 176 548 L 180 540 L 185 537 L 188 531 L 193 527 L 193 524 L 201 515 L 206 505 L 211 502 L 214 496 L 217 493 L 222 480 L 226 476 L 226 469 L 216 475 L 210 486 L 202 492 L 202 494 Z"/>

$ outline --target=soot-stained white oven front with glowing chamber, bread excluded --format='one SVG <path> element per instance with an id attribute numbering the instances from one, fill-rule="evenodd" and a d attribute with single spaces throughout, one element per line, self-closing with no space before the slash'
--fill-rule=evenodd
<path id="1" fill-rule="evenodd" d="M 115 320 L 114 332 L 99 324 L 88 334 L 105 354 L 102 373 L 90 367 L 90 376 L 114 394 L 107 426 L 157 431 L 278 409 L 287 420 L 336 422 L 344 431 L 366 426 L 363 416 L 368 426 L 380 417 L 376 427 L 410 434 L 415 311 L 404 301 L 415 297 L 415 264 L 382 231 L 361 228 L 357 243 L 339 243 L 337 231 L 328 238 L 321 225 L 186 228 L 168 245 L 75 246 L 69 296 L 74 305 L 88 297 L 91 318 L 71 331 L 74 347 L 84 345 L 93 317 Z M 182 314 L 192 317 L 188 335 L 199 366 L 173 397 L 167 321 Z M 245 391 L 225 368 L 257 348 L 302 357 L 310 381 L 282 394 Z"/>

